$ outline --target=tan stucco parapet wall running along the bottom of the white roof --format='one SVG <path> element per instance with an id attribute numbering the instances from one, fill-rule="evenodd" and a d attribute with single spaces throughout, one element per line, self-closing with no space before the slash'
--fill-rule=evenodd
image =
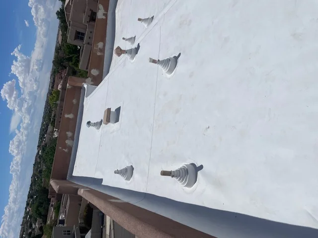
<path id="1" fill-rule="evenodd" d="M 79 189 L 79 195 L 140 238 L 213 238 L 169 218 L 93 189 Z"/>

